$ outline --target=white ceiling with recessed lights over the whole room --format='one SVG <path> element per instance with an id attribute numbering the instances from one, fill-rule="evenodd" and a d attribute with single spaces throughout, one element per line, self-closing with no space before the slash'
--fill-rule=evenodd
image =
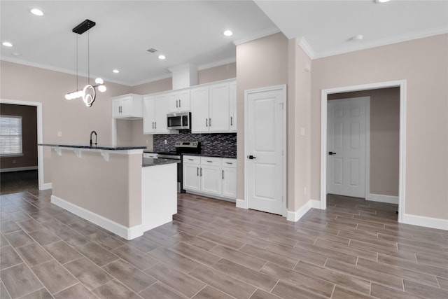
<path id="1" fill-rule="evenodd" d="M 29 13 L 40 8 L 45 15 Z M 97 25 L 71 32 L 83 20 Z M 0 58 L 11 62 L 138 85 L 235 62 L 236 44 L 283 32 L 311 58 L 448 32 L 448 1 L 0 1 Z M 223 36 L 232 29 L 233 36 Z M 363 34 L 363 41 L 351 41 Z M 156 48 L 157 53 L 148 53 Z M 166 60 L 158 60 L 164 54 Z M 120 74 L 113 74 L 119 69 Z"/>

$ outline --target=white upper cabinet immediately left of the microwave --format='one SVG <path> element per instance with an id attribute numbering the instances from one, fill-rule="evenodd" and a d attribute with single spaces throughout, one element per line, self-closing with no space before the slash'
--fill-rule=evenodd
<path id="1" fill-rule="evenodd" d="M 169 113 L 169 101 L 166 94 L 147 95 L 143 97 L 144 134 L 169 134 L 167 128 L 167 113 Z"/>

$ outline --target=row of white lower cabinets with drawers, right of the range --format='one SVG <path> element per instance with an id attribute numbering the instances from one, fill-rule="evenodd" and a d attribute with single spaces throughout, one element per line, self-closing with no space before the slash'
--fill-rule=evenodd
<path id="1" fill-rule="evenodd" d="M 237 198 L 237 160 L 215 157 L 183 156 L 185 190 Z"/>

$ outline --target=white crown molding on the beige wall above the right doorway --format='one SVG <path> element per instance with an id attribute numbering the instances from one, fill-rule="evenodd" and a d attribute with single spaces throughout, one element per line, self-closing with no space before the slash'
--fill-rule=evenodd
<path id="1" fill-rule="evenodd" d="M 419 32 L 412 32 L 409 34 L 401 34 L 397 36 L 391 36 L 386 39 L 381 39 L 372 42 L 351 42 L 350 46 L 335 48 L 332 50 L 325 50 L 317 52 L 312 59 L 318 59 L 323 57 L 329 57 L 333 55 L 339 55 L 344 53 L 350 53 L 358 50 L 366 50 L 370 48 L 377 48 L 381 46 L 388 46 L 394 43 L 402 43 L 404 41 L 412 41 L 414 39 L 423 39 L 430 36 L 436 36 L 440 34 L 447 34 L 448 27 L 437 27 L 428 30 L 422 30 Z"/>

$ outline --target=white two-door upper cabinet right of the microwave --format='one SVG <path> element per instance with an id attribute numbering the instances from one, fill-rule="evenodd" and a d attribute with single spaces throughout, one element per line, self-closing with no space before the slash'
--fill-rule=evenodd
<path id="1" fill-rule="evenodd" d="M 234 95 L 235 92 L 235 95 Z M 231 101 L 234 101 L 232 105 Z M 236 132 L 236 82 L 201 86 L 191 90 L 192 133 Z M 233 127 L 231 123 L 234 124 Z"/>

